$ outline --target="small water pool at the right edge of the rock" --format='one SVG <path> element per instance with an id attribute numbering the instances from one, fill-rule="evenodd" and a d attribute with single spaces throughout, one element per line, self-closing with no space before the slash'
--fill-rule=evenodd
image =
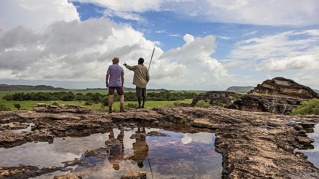
<path id="1" fill-rule="evenodd" d="M 313 133 L 307 133 L 310 138 L 315 139 L 315 142 L 312 143 L 314 149 L 310 150 L 300 150 L 305 155 L 308 156 L 308 160 L 313 163 L 317 168 L 319 168 L 319 124 L 314 128 Z"/>

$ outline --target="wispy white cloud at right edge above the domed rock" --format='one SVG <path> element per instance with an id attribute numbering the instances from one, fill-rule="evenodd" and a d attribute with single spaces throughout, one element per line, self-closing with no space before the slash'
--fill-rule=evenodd
<path id="1" fill-rule="evenodd" d="M 268 72 L 319 70 L 319 29 L 286 31 L 236 43 L 228 57 L 256 61 Z"/>

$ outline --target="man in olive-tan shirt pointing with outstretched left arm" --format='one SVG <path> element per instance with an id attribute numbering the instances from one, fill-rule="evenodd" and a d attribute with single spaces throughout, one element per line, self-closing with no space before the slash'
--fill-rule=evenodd
<path id="1" fill-rule="evenodd" d="M 144 108 L 145 96 L 146 96 L 146 84 L 149 81 L 149 74 L 148 74 L 147 68 L 143 65 L 143 63 L 144 63 L 144 59 L 139 58 L 138 65 L 129 66 L 126 63 L 123 64 L 127 69 L 134 71 L 133 84 L 136 85 L 136 96 L 139 101 L 138 108 Z M 142 97 L 143 97 L 143 104 L 141 106 Z"/>

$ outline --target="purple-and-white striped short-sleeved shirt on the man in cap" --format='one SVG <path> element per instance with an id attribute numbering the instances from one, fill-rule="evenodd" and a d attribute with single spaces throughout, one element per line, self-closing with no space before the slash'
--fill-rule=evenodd
<path id="1" fill-rule="evenodd" d="M 124 75 L 124 70 L 117 64 L 110 65 L 107 73 L 110 74 L 109 86 L 122 86 L 121 75 Z"/>

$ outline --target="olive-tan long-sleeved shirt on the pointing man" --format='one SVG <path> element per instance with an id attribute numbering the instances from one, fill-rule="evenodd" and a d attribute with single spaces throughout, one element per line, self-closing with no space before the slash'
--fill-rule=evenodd
<path id="1" fill-rule="evenodd" d="M 146 84 L 149 81 L 147 68 L 143 64 L 134 66 L 125 65 L 125 67 L 134 71 L 133 84 L 139 88 L 146 88 Z"/>

